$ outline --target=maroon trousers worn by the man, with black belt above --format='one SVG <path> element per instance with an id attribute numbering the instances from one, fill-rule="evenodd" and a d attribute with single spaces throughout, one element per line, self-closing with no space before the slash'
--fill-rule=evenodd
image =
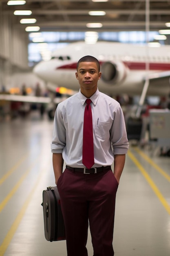
<path id="1" fill-rule="evenodd" d="M 83 174 L 66 170 L 57 188 L 66 228 L 68 256 L 88 256 L 88 221 L 93 256 L 113 256 L 113 226 L 118 182 L 111 170 Z"/>

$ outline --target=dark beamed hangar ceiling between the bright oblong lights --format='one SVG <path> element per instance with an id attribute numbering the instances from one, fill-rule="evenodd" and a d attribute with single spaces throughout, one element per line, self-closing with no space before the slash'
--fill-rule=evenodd
<path id="1" fill-rule="evenodd" d="M 24 31 L 21 18 L 35 18 L 40 31 L 94 31 L 89 22 L 101 22 L 95 31 L 132 31 L 146 29 L 146 0 L 26 0 L 24 5 L 8 6 L 0 0 L 0 13 L 10 16 L 13 25 Z M 14 16 L 15 10 L 31 10 L 31 16 Z M 89 11 L 105 11 L 105 16 L 91 16 Z M 170 22 L 170 0 L 150 0 L 150 30 L 166 29 Z"/>

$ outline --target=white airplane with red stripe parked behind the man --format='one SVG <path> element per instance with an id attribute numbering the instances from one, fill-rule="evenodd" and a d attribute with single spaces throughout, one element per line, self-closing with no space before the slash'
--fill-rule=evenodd
<path id="1" fill-rule="evenodd" d="M 51 60 L 41 61 L 33 72 L 54 86 L 78 90 L 76 64 L 85 55 L 96 57 L 101 64 L 102 78 L 98 83 L 101 92 L 110 96 L 134 96 L 142 92 L 144 96 L 170 94 L 170 45 L 158 48 L 114 42 L 76 42 L 57 49 Z"/>

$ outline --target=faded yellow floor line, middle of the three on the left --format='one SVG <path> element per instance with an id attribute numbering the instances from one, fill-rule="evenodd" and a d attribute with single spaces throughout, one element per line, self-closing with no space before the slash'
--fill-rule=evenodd
<path id="1" fill-rule="evenodd" d="M 26 172 L 22 175 L 20 180 L 17 182 L 17 184 L 13 187 L 13 189 L 9 192 L 9 194 L 4 198 L 4 200 L 0 203 L 0 213 L 4 209 L 7 202 L 11 199 L 11 197 L 14 195 L 14 193 L 17 191 L 19 186 L 22 184 L 23 180 L 26 178 L 26 176 L 29 174 L 32 166 L 38 161 L 39 158 L 36 158 L 33 164 L 26 170 Z"/>

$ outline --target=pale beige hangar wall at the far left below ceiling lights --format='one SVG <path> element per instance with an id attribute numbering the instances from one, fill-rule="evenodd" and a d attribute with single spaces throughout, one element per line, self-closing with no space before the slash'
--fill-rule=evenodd
<path id="1" fill-rule="evenodd" d="M 28 70 L 28 35 L 13 26 L 13 16 L 0 12 L 0 89 L 9 87 L 13 72 Z"/>

